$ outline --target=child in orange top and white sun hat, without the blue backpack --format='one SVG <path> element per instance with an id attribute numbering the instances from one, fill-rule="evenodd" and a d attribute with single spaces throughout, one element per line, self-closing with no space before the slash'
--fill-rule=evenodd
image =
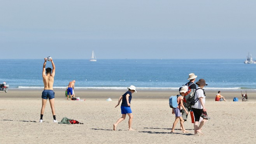
<path id="1" fill-rule="evenodd" d="M 182 128 L 183 133 L 189 132 L 189 131 L 185 130 L 185 128 L 184 128 L 184 125 L 183 125 L 184 120 L 181 116 L 181 107 L 182 107 L 182 109 L 184 109 L 186 111 L 186 114 L 188 115 L 188 111 L 185 109 L 185 107 L 183 105 L 183 97 L 187 91 L 188 91 L 188 87 L 183 86 L 181 88 L 181 90 L 179 91 L 180 95 L 179 95 L 179 97 L 177 97 L 178 107 L 172 108 L 172 114 L 173 115 L 175 114 L 175 121 L 174 121 L 174 124 L 172 125 L 172 132 L 174 132 L 175 126 L 177 125 L 178 121 L 180 121 L 180 123 L 181 123 L 181 128 Z"/>

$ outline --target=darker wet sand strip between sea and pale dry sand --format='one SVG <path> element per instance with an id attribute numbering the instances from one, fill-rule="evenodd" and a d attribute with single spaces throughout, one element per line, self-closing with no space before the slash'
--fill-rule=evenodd
<path id="1" fill-rule="evenodd" d="M 80 97 L 80 99 L 101 99 L 105 100 L 108 98 L 118 99 L 121 95 L 126 92 L 127 89 L 75 89 L 75 97 Z M 41 99 L 43 89 L 9 89 L 7 93 L 0 91 L 0 99 Z M 241 101 L 242 95 L 241 90 L 220 90 L 221 95 L 225 97 L 228 101 L 233 101 L 233 97 L 238 97 Z M 54 88 L 55 99 L 63 99 L 65 95 L 65 88 Z M 205 90 L 207 101 L 214 101 L 218 90 Z M 249 100 L 256 101 L 256 90 L 242 90 L 242 94 L 247 92 Z M 137 89 L 137 93 L 133 93 L 133 99 L 142 100 L 164 100 L 168 101 L 169 97 L 172 95 L 179 94 L 177 90 L 170 89 L 150 89 L 150 90 L 140 90 Z"/>

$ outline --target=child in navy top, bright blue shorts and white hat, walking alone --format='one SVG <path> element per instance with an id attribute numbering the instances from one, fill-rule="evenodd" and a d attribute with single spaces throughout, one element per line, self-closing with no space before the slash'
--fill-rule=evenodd
<path id="1" fill-rule="evenodd" d="M 118 123 L 120 123 L 121 121 L 123 121 L 126 117 L 126 114 L 129 116 L 129 121 L 128 121 L 128 130 L 133 130 L 132 129 L 132 119 L 133 119 L 133 115 L 132 115 L 132 109 L 131 109 L 131 100 L 132 100 L 132 94 L 133 92 L 136 92 L 136 87 L 131 85 L 130 87 L 128 87 L 128 91 L 126 93 L 124 93 L 121 97 L 119 97 L 118 99 L 118 104 L 115 106 L 115 108 L 120 104 L 121 100 L 122 100 L 122 104 L 121 104 L 121 114 L 122 117 L 119 118 L 116 123 L 114 123 L 113 125 L 113 130 L 116 130 L 116 127 L 118 125 Z"/>

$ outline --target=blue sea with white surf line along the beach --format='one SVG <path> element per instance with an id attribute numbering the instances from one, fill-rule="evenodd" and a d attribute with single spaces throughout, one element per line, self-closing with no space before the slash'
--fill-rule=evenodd
<path id="1" fill-rule="evenodd" d="M 44 59 L 1 59 L 0 83 L 9 88 L 44 88 Z M 205 89 L 256 90 L 256 64 L 244 59 L 54 59 L 54 88 L 75 80 L 79 89 L 173 89 L 188 82 L 189 73 L 205 79 Z M 47 62 L 46 68 L 52 68 Z"/>

